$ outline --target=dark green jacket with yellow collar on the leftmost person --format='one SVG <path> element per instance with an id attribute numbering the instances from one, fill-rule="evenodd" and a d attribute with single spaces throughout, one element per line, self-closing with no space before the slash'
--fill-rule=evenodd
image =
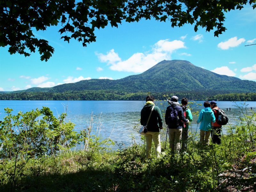
<path id="1" fill-rule="evenodd" d="M 140 112 L 140 124 L 146 125 L 148 121 L 149 114 L 151 112 L 151 108 L 153 107 L 153 104 L 147 104 L 141 109 Z M 151 132 L 159 132 L 159 127 L 163 126 L 163 117 L 161 114 L 160 109 L 155 106 L 151 117 L 148 122 L 148 131 Z"/>

